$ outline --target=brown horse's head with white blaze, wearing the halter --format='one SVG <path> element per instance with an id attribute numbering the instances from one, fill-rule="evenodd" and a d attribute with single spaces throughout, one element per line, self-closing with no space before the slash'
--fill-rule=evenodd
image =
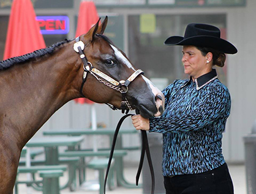
<path id="1" fill-rule="evenodd" d="M 81 57 L 80 72 L 83 72 L 78 97 L 111 104 L 122 111 L 138 109 L 145 118 L 160 116 L 164 111 L 164 95 L 103 35 L 107 16 L 102 24 L 99 25 L 99 21 L 87 34 L 78 37 L 74 45 Z"/>

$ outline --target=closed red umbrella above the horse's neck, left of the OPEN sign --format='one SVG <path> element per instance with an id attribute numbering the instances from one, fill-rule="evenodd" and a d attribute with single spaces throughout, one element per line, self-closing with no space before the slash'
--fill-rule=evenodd
<path id="1" fill-rule="evenodd" d="M 31 0 L 13 0 L 4 60 L 45 48 Z"/>

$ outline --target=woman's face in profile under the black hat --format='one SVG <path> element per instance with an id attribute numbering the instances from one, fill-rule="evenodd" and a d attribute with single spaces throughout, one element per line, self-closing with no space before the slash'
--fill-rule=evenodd
<path id="1" fill-rule="evenodd" d="M 184 73 L 192 76 L 193 79 L 202 76 L 203 74 L 209 73 L 211 71 L 211 65 L 207 62 L 207 57 L 201 54 L 195 46 L 183 46 L 183 65 Z"/>

